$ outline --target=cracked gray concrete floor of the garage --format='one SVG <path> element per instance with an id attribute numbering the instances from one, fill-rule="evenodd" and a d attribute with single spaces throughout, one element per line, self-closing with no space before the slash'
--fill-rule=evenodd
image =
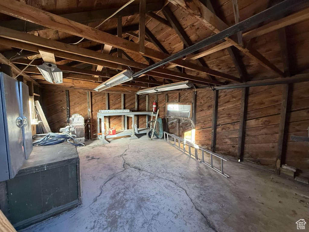
<path id="1" fill-rule="evenodd" d="M 83 204 L 23 231 L 297 231 L 308 185 L 235 161 L 230 178 L 164 140 L 78 148 Z"/>

